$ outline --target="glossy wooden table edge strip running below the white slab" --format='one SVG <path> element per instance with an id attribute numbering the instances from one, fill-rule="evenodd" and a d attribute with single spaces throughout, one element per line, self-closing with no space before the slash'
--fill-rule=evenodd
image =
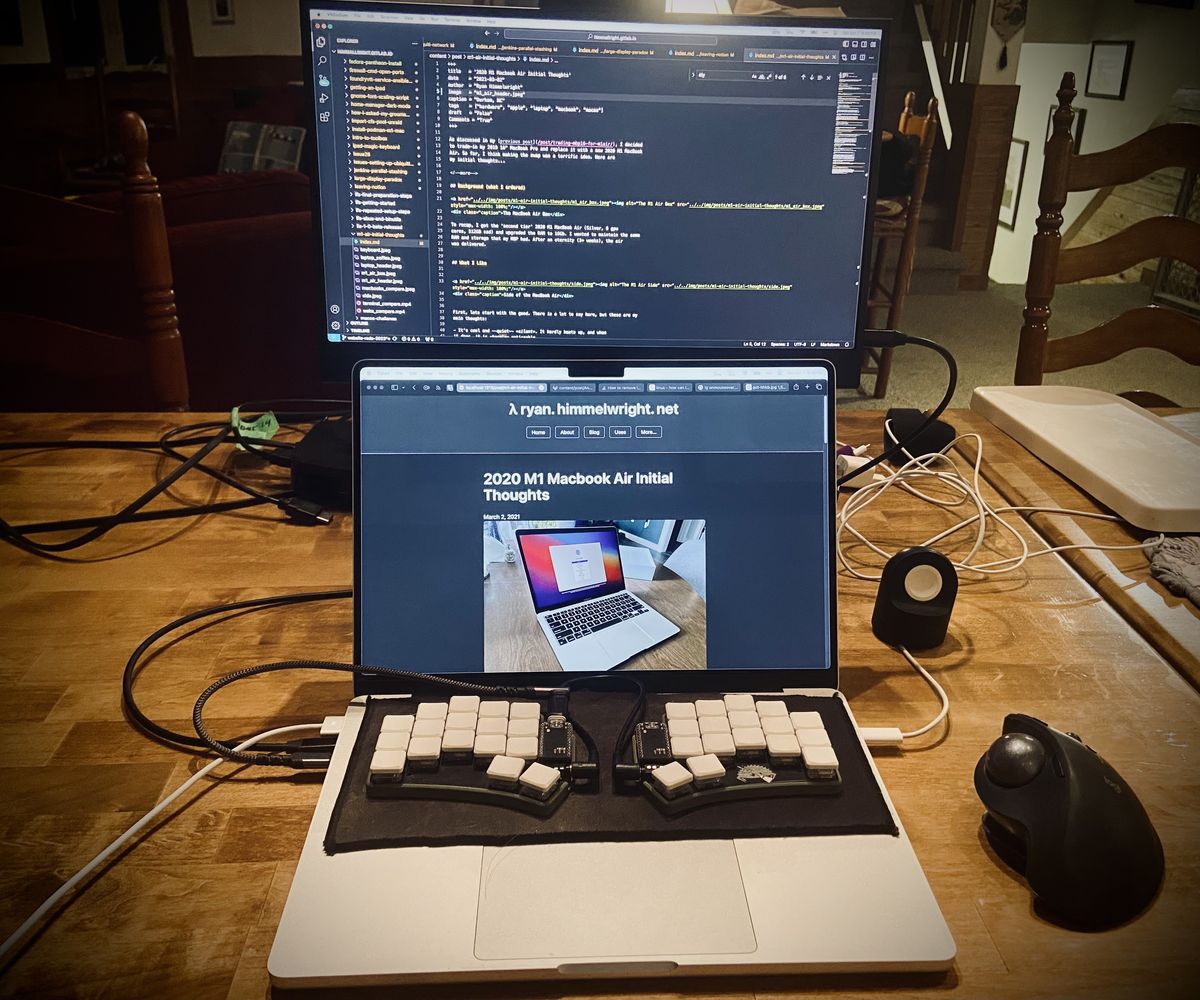
<path id="1" fill-rule="evenodd" d="M 1177 417 L 1195 415 L 1175 413 Z M 973 460 L 973 447 L 962 450 Z M 989 441 L 984 457 L 988 480 L 1014 507 L 1058 507 L 1111 514 L 1008 435 L 996 435 L 995 441 Z M 1156 534 L 1123 521 L 1060 514 L 1032 514 L 1030 520 L 1051 545 L 1129 545 Z M 1144 552 L 1072 549 L 1063 552 L 1063 558 L 1151 646 L 1200 687 L 1200 609 L 1154 580 Z"/>

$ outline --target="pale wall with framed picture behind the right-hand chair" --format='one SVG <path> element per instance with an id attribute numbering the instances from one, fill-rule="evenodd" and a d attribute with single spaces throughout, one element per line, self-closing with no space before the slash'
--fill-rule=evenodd
<path id="1" fill-rule="evenodd" d="M 1085 97 L 1092 41 L 1133 41 L 1133 61 L 1123 101 Z M 1076 108 L 1087 108 L 1081 148 L 1097 152 L 1145 132 L 1162 114 L 1171 95 L 1200 83 L 1200 7 L 1175 10 L 1133 0 L 1031 0 L 1025 43 L 1021 46 L 1013 137 L 1030 143 L 1025 180 L 1018 205 L 1016 229 L 996 232 L 989 276 L 1006 285 L 1024 285 L 1030 264 L 1046 115 L 1064 71 L 1075 73 Z M 1063 209 L 1063 232 L 1094 197 L 1078 192 Z"/>

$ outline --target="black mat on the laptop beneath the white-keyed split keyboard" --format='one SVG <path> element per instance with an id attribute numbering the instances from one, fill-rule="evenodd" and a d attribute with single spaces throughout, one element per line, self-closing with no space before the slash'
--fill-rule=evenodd
<path id="1" fill-rule="evenodd" d="M 647 695 L 642 719 L 662 715 L 666 701 L 696 695 Z M 779 695 L 773 695 L 779 697 Z M 820 712 L 829 742 L 838 754 L 842 789 L 835 796 L 763 798 L 696 809 L 664 816 L 641 792 L 614 795 L 612 750 L 634 696 L 624 691 L 572 691 L 571 715 L 595 739 L 600 750 L 600 790 L 572 790 L 559 809 L 546 819 L 514 809 L 472 802 L 368 798 L 366 795 L 371 749 L 384 717 L 412 712 L 413 701 L 370 699 L 359 727 L 346 778 L 342 782 L 325 851 L 341 854 L 376 848 L 448 848 L 463 844 L 559 844 L 602 840 L 696 840 L 733 837 L 815 837 L 846 833 L 887 833 L 898 830 L 853 732 L 841 701 L 833 697 L 786 696 L 788 711 Z M 628 755 L 625 759 L 629 759 Z"/>

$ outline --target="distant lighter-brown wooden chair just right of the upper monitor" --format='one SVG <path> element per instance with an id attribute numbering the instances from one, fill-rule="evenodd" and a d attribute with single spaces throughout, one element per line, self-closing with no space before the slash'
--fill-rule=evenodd
<path id="1" fill-rule="evenodd" d="M 920 140 L 917 156 L 917 166 L 913 172 L 912 191 L 901 199 L 904 210 L 893 217 L 876 217 L 875 220 L 875 259 L 871 265 L 871 285 L 866 299 L 868 322 L 880 328 L 875 322 L 876 317 L 887 311 L 883 317 L 882 329 L 896 330 L 900 328 L 900 313 L 904 310 L 904 300 L 908 294 L 908 283 L 912 280 L 912 267 L 917 259 L 917 227 L 920 222 L 920 206 L 925 198 L 925 181 L 929 179 L 929 160 L 934 154 L 934 140 L 937 138 L 937 98 L 929 100 L 926 113 L 914 114 L 913 107 L 917 95 L 908 91 L 904 98 L 904 110 L 900 112 L 900 124 L 896 131 L 901 136 L 916 136 Z M 890 283 L 883 277 L 883 258 L 887 256 L 888 245 L 895 240 L 900 241 L 900 256 L 896 259 L 896 269 L 892 275 Z M 875 399 L 881 400 L 888 391 L 888 379 L 892 376 L 892 351 L 890 347 L 868 348 L 864 358 L 865 375 L 875 376 Z"/>

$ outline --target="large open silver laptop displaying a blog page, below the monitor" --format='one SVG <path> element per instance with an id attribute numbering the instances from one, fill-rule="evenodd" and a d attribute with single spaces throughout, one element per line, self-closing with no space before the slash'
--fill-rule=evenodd
<path id="1" fill-rule="evenodd" d="M 698 537 L 660 526 L 674 541 L 655 546 L 653 579 L 626 581 L 680 629 L 642 654 L 664 659 L 631 672 L 680 700 L 803 694 L 850 718 L 838 691 L 827 365 L 596 377 L 365 363 L 353 393 L 358 661 L 558 685 L 517 533 L 703 519 Z M 935 970 L 954 958 L 860 741 L 842 752 L 862 754 L 886 833 L 487 846 L 464 832 L 455 846 L 328 854 L 366 696 L 406 697 L 379 676 L 356 678 L 356 691 L 271 950 L 278 986 Z"/>

